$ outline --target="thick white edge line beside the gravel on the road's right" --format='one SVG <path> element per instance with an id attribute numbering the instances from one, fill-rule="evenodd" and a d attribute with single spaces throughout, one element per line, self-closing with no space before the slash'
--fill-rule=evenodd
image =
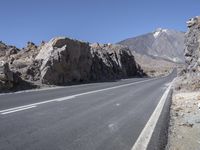
<path id="1" fill-rule="evenodd" d="M 147 149 L 173 82 L 174 80 L 170 83 L 169 87 L 167 88 L 163 96 L 161 97 L 158 105 L 156 106 L 156 109 L 154 110 L 153 114 L 149 118 L 147 124 L 145 125 L 144 129 L 140 133 L 140 136 L 138 137 L 137 141 L 135 142 L 131 150 L 146 150 Z"/>

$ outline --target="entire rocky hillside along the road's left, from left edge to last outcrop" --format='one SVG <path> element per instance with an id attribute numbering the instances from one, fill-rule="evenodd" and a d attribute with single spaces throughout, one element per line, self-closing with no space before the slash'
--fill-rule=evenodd
<path id="1" fill-rule="evenodd" d="M 36 46 L 28 42 L 21 50 L 0 43 L 0 89 L 6 83 L 14 88 L 20 81 L 37 85 L 66 85 L 80 82 L 106 81 L 144 75 L 130 50 L 121 45 L 89 44 L 58 37 Z M 17 80 L 17 79 L 16 79 Z M 5 89 L 6 87 L 4 87 Z"/>

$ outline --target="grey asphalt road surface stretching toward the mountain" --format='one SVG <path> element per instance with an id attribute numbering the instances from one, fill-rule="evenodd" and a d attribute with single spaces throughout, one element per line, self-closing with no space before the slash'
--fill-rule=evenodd
<path id="1" fill-rule="evenodd" d="M 0 95 L 0 150 L 130 150 L 175 76 Z"/>

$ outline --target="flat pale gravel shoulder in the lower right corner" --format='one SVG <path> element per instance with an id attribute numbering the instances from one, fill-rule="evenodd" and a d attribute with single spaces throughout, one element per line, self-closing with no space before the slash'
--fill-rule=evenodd
<path id="1" fill-rule="evenodd" d="M 175 92 L 167 150 L 200 149 L 200 92 Z"/>

